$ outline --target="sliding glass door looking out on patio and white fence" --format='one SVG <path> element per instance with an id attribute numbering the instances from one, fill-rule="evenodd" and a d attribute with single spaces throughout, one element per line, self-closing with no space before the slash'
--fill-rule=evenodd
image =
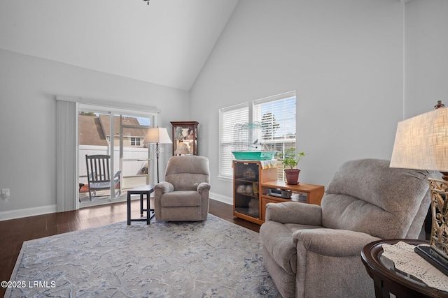
<path id="1" fill-rule="evenodd" d="M 151 150 L 144 142 L 155 115 L 144 112 L 108 111 L 107 107 L 80 105 L 78 111 L 78 161 L 80 207 L 125 200 L 127 189 L 151 183 Z M 109 157 L 109 177 L 116 185 L 89 191 L 92 177 L 85 156 Z M 95 167 L 94 167 L 95 169 Z M 113 184 L 112 184 L 113 185 Z"/>

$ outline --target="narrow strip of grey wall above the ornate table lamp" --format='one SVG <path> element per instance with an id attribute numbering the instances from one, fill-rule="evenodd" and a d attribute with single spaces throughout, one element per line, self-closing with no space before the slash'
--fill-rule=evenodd
<path id="1" fill-rule="evenodd" d="M 448 106 L 448 1 L 406 3 L 405 118 Z"/>

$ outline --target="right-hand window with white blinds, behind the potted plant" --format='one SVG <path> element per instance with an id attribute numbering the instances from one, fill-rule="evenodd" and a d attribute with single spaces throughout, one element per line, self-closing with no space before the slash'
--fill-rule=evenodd
<path id="1" fill-rule="evenodd" d="M 295 91 L 253 101 L 253 121 L 261 124 L 265 151 L 284 153 L 295 147 L 295 110 Z M 277 178 L 283 180 L 281 166 Z"/>

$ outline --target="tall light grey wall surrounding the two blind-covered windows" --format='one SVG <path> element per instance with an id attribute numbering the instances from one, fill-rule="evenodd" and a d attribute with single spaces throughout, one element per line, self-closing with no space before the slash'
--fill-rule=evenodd
<path id="1" fill-rule="evenodd" d="M 241 0 L 191 90 L 212 192 L 218 109 L 297 91 L 300 181 L 327 185 L 340 163 L 390 158 L 402 119 L 402 3 L 391 0 Z"/>

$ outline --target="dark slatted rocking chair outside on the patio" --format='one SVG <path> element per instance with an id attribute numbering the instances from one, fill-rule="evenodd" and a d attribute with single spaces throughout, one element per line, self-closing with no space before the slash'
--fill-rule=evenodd
<path id="1" fill-rule="evenodd" d="M 106 191 L 108 189 L 115 190 L 115 195 L 119 196 L 120 191 L 120 174 L 121 171 L 116 172 L 111 179 L 111 156 L 109 155 L 86 155 L 85 163 L 87 165 L 87 185 L 89 186 L 90 200 L 99 197 L 109 197 L 108 194 L 98 194 L 97 191 Z"/>

